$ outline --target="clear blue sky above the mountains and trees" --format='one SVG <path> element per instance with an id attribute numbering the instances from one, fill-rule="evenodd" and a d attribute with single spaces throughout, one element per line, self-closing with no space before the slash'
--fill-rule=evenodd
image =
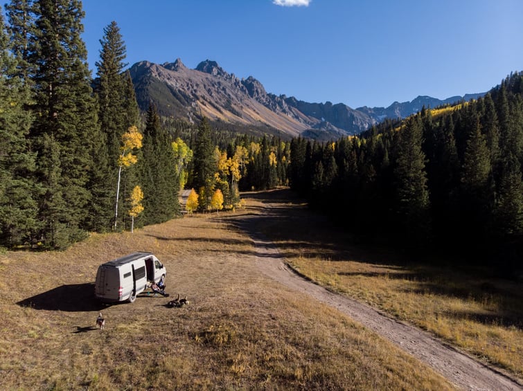
<path id="1" fill-rule="evenodd" d="M 127 62 L 214 60 L 267 92 L 384 106 L 523 71 L 522 0 L 84 0 L 89 66 L 116 21 Z"/>

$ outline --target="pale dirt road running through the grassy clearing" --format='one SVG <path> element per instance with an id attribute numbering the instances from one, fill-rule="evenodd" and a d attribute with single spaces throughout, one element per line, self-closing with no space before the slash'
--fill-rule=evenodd
<path id="1" fill-rule="evenodd" d="M 266 203 L 264 215 L 277 215 L 278 206 Z M 245 230 L 256 247 L 256 262 L 263 273 L 299 293 L 335 307 L 362 325 L 388 338 L 405 352 L 428 364 L 436 372 L 463 390 L 523 390 L 522 385 L 497 372 L 493 368 L 475 361 L 474 358 L 459 352 L 428 334 L 403 322 L 398 322 L 375 309 L 351 300 L 342 295 L 332 293 L 319 287 L 297 273 L 294 273 L 285 263 L 278 248 L 260 234 L 252 217 L 245 221 L 237 221 L 238 227 Z"/>

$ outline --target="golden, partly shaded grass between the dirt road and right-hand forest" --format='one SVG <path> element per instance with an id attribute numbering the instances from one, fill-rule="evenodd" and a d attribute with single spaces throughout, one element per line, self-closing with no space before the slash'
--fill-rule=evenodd
<path id="1" fill-rule="evenodd" d="M 441 267 L 354 246 L 326 219 L 289 203 L 283 193 L 258 197 L 276 202 L 290 219 L 260 225 L 295 269 L 318 284 L 350 295 L 418 325 L 511 374 L 523 378 L 523 286 L 492 271 Z"/>

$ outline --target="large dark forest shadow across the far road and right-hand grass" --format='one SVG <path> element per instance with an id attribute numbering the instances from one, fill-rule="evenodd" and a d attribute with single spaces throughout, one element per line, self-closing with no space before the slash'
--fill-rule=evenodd
<path id="1" fill-rule="evenodd" d="M 243 230 L 258 246 L 271 240 L 281 257 L 306 257 L 327 261 L 353 261 L 373 265 L 371 271 L 339 271 L 339 275 L 355 278 L 390 278 L 414 283 L 409 292 L 432 293 L 450 298 L 476 300 L 485 298 L 499 302 L 499 309 L 485 313 L 456 313 L 456 318 L 474 318 L 482 323 L 522 327 L 523 310 L 514 304 L 523 298 L 521 286 L 493 278 L 488 271 L 463 266 L 452 259 L 438 257 L 434 264 L 429 253 L 406 255 L 387 247 L 360 243 L 355 236 L 339 228 L 329 217 L 309 210 L 290 190 L 249 192 L 243 197 L 266 205 L 263 215 L 224 217 L 231 228 Z M 247 213 L 250 206 L 247 206 Z M 257 255 L 256 251 L 252 255 Z M 274 255 L 272 255 L 274 256 Z M 445 263 L 446 262 L 446 263 Z M 449 263 L 450 262 L 450 263 Z"/>

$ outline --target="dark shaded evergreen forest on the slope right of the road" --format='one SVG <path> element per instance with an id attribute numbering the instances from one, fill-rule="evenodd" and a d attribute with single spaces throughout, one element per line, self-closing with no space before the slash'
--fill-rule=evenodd
<path id="1" fill-rule="evenodd" d="M 292 188 L 366 239 L 520 267 L 522 84 L 511 73 L 484 98 L 333 143 L 296 138 Z"/>

